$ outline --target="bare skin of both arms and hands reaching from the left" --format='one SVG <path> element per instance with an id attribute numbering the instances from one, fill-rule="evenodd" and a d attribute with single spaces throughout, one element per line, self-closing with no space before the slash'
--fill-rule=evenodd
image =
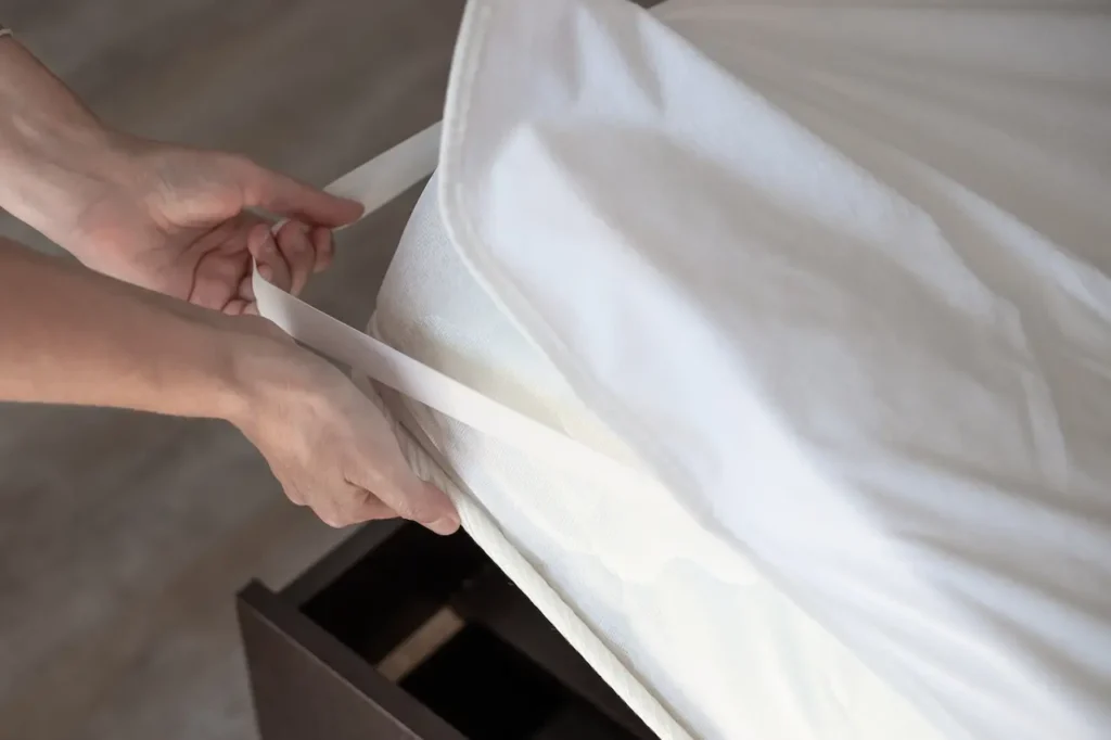
<path id="1" fill-rule="evenodd" d="M 251 316 L 252 258 L 300 291 L 358 203 L 236 154 L 111 131 L 4 38 L 0 207 L 91 268 L 0 239 L 0 400 L 226 419 L 329 524 L 400 516 L 458 528 L 374 404 Z M 274 238 L 249 208 L 291 221 Z"/>

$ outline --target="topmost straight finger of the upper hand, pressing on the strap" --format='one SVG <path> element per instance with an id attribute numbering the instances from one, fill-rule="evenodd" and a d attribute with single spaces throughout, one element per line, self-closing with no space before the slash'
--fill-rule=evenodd
<path id="1" fill-rule="evenodd" d="M 249 207 L 331 228 L 353 223 L 362 216 L 358 201 L 331 196 L 250 160 L 238 160 L 236 167 Z"/>

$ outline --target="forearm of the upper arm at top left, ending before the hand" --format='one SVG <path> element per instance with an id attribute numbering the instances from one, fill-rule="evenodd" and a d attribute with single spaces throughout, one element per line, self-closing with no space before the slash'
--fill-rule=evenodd
<path id="1" fill-rule="evenodd" d="M 126 158 L 81 101 L 13 38 L 0 38 L 0 208 L 71 248 L 73 226 Z"/>

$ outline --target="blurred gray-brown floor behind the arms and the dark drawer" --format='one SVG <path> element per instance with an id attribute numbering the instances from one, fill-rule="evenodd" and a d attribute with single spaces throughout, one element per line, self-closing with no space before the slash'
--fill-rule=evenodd
<path id="1" fill-rule="evenodd" d="M 0 0 L 0 17 L 109 121 L 324 183 L 439 117 L 461 7 Z M 366 321 L 407 200 L 343 234 L 313 302 Z M 253 737 L 233 592 L 340 537 L 226 426 L 0 406 L 0 740 Z"/>

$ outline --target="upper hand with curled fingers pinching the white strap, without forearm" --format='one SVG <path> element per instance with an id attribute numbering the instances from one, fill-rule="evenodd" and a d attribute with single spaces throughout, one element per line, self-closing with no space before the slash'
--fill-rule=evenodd
<path id="1" fill-rule="evenodd" d="M 253 313 L 251 260 L 292 293 L 332 259 L 331 229 L 359 218 L 336 198 L 224 152 L 108 134 L 61 241 L 88 267 L 224 313 Z M 291 219 L 277 234 L 247 209 Z"/>

